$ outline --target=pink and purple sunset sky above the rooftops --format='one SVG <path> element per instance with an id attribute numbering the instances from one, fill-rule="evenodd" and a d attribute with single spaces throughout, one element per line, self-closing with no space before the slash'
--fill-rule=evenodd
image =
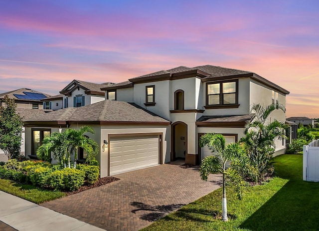
<path id="1" fill-rule="evenodd" d="M 0 0 L 0 92 L 176 66 L 252 71 L 319 117 L 319 0 Z"/>

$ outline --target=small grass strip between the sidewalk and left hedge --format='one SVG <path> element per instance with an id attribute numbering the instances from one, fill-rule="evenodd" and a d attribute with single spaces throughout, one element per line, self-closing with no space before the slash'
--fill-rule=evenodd
<path id="1" fill-rule="evenodd" d="M 60 191 L 43 190 L 32 185 L 17 184 L 5 179 L 0 179 L 0 190 L 36 204 L 65 196 L 65 193 Z"/>

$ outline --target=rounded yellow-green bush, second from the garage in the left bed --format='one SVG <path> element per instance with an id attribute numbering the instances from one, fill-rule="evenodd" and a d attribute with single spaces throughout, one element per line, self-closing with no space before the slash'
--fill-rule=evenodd
<path id="1" fill-rule="evenodd" d="M 75 191 L 84 184 L 84 171 L 79 169 L 65 168 L 63 172 L 63 185 L 66 191 Z"/>

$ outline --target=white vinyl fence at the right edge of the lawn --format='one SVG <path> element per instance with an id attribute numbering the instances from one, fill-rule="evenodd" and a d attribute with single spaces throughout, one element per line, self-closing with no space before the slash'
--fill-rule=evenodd
<path id="1" fill-rule="evenodd" d="M 319 182 L 319 140 L 304 145 L 304 181 Z"/>

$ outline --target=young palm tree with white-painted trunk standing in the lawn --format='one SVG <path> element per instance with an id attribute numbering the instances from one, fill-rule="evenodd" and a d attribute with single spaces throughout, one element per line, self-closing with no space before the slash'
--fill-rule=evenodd
<path id="1" fill-rule="evenodd" d="M 243 148 L 238 143 L 226 146 L 225 138 L 221 134 L 206 133 L 201 136 L 199 145 L 200 147 L 207 146 L 213 154 L 202 160 L 199 167 L 201 179 L 207 181 L 208 175 L 213 173 L 223 175 L 222 221 L 228 221 L 226 182 L 234 186 L 238 199 L 242 199 L 245 192 L 245 181 L 240 173 L 243 172 L 253 178 L 256 171 L 250 166 Z M 232 163 L 230 167 L 226 168 L 228 161 Z"/>

